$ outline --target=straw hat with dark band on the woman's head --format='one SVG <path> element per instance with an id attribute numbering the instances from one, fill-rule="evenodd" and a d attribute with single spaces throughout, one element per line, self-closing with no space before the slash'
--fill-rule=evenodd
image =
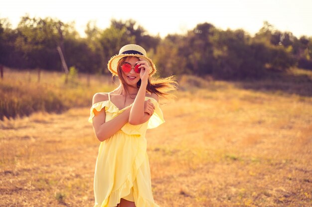
<path id="1" fill-rule="evenodd" d="M 113 56 L 111 58 L 111 60 L 109 60 L 109 62 L 107 64 L 108 69 L 114 75 L 118 75 L 117 64 L 118 64 L 119 60 L 122 59 L 123 57 L 128 57 L 128 56 L 138 57 L 138 58 L 142 58 L 142 59 L 146 60 L 150 65 L 150 69 L 151 69 L 150 75 L 155 74 L 156 67 L 155 67 L 153 61 L 146 56 L 146 51 L 144 50 L 144 48 L 139 46 L 139 45 L 134 45 L 134 44 L 125 45 L 124 47 L 122 47 L 119 51 L 119 54 Z"/>

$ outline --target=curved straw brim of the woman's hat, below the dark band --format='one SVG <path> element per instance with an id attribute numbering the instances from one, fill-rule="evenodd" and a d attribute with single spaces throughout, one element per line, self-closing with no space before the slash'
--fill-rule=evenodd
<path id="1" fill-rule="evenodd" d="M 120 59 L 124 58 L 124 57 L 137 57 L 137 58 L 142 58 L 144 59 L 145 61 L 147 61 L 150 65 L 150 75 L 153 75 L 156 73 L 156 67 L 153 63 L 153 61 L 146 57 L 146 56 L 143 56 L 143 55 L 138 55 L 138 54 L 122 54 L 122 55 L 116 55 L 116 56 L 113 56 L 111 58 L 111 60 L 109 60 L 108 64 L 107 64 L 107 67 L 108 69 L 116 76 L 118 76 L 118 72 L 117 72 L 117 66 L 118 66 L 118 62 L 120 61 Z"/>

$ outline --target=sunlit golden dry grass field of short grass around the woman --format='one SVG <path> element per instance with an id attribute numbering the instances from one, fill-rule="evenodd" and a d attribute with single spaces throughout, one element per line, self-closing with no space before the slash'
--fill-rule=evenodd
<path id="1" fill-rule="evenodd" d="M 312 206 L 311 86 L 267 85 L 183 77 L 176 100 L 160 101 L 166 122 L 147 133 L 160 207 Z M 93 207 L 88 116 L 74 107 L 0 121 L 0 207 Z"/>

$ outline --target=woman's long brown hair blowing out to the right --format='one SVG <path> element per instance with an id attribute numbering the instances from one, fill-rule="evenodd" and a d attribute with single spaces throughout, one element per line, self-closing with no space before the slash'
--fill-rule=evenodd
<path id="1" fill-rule="evenodd" d="M 122 75 L 121 66 L 126 62 L 127 57 L 120 59 L 117 65 L 117 73 L 123 88 L 128 92 L 126 80 Z M 137 87 L 140 88 L 141 79 L 137 83 Z M 165 78 L 152 78 L 149 76 L 148 85 L 146 90 L 150 93 L 156 93 L 158 96 L 162 96 L 164 98 L 174 97 L 174 95 L 168 93 L 169 91 L 174 91 L 177 89 L 177 82 L 173 75 Z"/>

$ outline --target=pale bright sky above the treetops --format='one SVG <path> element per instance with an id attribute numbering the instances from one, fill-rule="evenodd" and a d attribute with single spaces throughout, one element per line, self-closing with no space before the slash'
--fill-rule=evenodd
<path id="1" fill-rule="evenodd" d="M 312 36 L 312 0 L 0 0 L 0 18 L 8 18 L 13 28 L 25 14 L 74 21 L 81 36 L 88 21 L 105 29 L 112 18 L 134 19 L 160 37 L 184 34 L 204 22 L 254 35 L 264 21 L 297 37 Z"/>

